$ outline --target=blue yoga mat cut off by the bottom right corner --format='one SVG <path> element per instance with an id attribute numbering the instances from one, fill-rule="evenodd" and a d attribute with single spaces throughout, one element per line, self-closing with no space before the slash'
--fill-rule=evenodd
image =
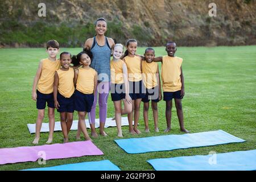
<path id="1" fill-rule="evenodd" d="M 256 170 L 256 150 L 147 160 L 157 171 Z"/>

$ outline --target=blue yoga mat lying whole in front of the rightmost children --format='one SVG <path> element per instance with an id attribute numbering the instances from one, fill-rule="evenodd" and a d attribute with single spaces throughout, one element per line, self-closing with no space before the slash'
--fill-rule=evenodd
<path id="1" fill-rule="evenodd" d="M 128 154 L 245 142 L 245 140 L 234 137 L 222 130 L 183 135 L 117 139 L 114 141 Z"/>

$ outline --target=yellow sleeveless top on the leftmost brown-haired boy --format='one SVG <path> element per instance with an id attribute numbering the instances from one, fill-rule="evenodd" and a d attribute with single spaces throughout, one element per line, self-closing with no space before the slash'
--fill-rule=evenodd
<path id="1" fill-rule="evenodd" d="M 54 74 L 60 68 L 60 60 L 51 61 L 48 58 L 42 61 L 42 72 L 38 81 L 38 91 L 44 94 L 53 92 Z"/>

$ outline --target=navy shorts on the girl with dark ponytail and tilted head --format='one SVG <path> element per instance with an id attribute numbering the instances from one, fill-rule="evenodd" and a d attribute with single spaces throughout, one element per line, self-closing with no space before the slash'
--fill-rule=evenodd
<path id="1" fill-rule="evenodd" d="M 80 112 L 90 113 L 92 109 L 94 101 L 94 95 L 92 94 L 84 94 L 79 92 L 79 90 L 75 90 L 75 110 Z"/>

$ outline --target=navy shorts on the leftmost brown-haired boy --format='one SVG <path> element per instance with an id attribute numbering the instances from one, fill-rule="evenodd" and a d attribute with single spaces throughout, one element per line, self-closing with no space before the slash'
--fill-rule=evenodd
<path id="1" fill-rule="evenodd" d="M 53 93 L 44 94 L 36 90 L 36 94 L 38 96 L 36 98 L 36 109 L 46 109 L 46 102 L 48 107 L 55 108 Z"/>

